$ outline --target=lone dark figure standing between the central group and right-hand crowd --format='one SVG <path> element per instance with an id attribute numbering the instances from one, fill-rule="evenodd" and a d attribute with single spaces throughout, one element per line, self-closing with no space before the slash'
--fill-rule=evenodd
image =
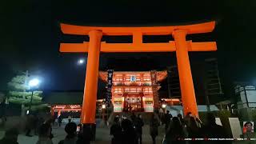
<path id="1" fill-rule="evenodd" d="M 156 118 L 154 118 L 154 114 L 152 114 L 150 118 L 150 136 L 153 144 L 155 144 L 155 138 L 158 136 L 158 126 L 159 122 Z"/>

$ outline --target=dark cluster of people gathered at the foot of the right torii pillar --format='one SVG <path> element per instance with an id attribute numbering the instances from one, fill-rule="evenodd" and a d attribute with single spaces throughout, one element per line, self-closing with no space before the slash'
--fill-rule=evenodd
<path id="1" fill-rule="evenodd" d="M 206 123 L 203 123 L 197 116 L 190 112 L 182 118 L 182 114 L 177 117 L 167 110 L 166 117 L 166 135 L 164 144 L 170 143 L 200 143 L 199 141 L 182 141 L 185 138 L 229 138 L 226 130 L 215 122 L 215 116 L 212 113 L 207 114 Z M 226 142 L 228 143 L 228 142 Z"/>

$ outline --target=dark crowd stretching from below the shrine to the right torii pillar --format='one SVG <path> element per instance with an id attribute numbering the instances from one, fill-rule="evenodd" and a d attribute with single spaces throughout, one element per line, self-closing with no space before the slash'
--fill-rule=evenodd
<path id="1" fill-rule="evenodd" d="M 117 115 L 110 128 L 110 134 L 113 135 L 112 144 L 116 143 L 142 143 L 142 126 L 144 122 L 142 115 L 135 116 L 133 113 L 130 118 Z M 166 111 L 162 117 L 158 114 L 152 114 L 150 118 L 150 136 L 152 143 L 156 143 L 158 136 L 158 126 L 165 125 L 165 138 L 162 143 L 200 143 L 198 141 L 184 141 L 185 138 L 229 138 L 226 130 L 215 122 L 214 114 L 207 114 L 206 123 L 203 123 L 197 116 L 190 112 L 183 118 L 182 114 L 173 117 L 170 111 Z M 226 142 L 228 143 L 228 142 Z"/>

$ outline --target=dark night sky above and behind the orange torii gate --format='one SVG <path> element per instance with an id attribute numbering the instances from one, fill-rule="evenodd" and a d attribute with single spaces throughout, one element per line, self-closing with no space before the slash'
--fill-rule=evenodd
<path id="1" fill-rule="evenodd" d="M 18 71 L 42 77 L 44 90 L 82 90 L 86 54 L 61 54 L 60 42 L 82 42 L 88 37 L 64 35 L 60 22 L 87 26 L 167 26 L 214 19 L 213 33 L 192 35 L 194 41 L 216 41 L 217 52 L 190 53 L 190 62 L 217 57 L 224 85 L 256 81 L 256 1 L 8 1 L 0 5 L 0 90 Z M 130 42 L 129 37 L 103 38 Z M 146 38 L 167 42 L 168 36 Z M 176 63 L 175 54 L 102 54 L 100 70 L 164 70 Z M 197 70 L 193 67 L 192 70 Z"/>

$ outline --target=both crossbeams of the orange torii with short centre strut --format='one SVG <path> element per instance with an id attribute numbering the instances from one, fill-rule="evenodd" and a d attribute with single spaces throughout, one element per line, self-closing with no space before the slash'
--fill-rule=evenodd
<path id="1" fill-rule="evenodd" d="M 126 52 L 172 52 L 176 51 L 175 42 L 143 43 L 143 35 L 175 35 L 178 30 L 186 34 L 208 33 L 214 30 L 215 22 L 204 22 L 184 26 L 153 26 L 153 27 L 99 27 L 99 26 L 74 26 L 61 24 L 64 34 L 90 35 L 90 31 L 99 30 L 102 35 L 132 35 L 132 43 L 106 43 L 101 42 L 102 53 Z M 186 35 L 185 34 L 185 35 Z M 217 50 L 216 42 L 191 42 L 186 41 L 189 51 Z M 88 52 L 89 42 L 61 43 L 60 51 L 69 53 Z"/>

